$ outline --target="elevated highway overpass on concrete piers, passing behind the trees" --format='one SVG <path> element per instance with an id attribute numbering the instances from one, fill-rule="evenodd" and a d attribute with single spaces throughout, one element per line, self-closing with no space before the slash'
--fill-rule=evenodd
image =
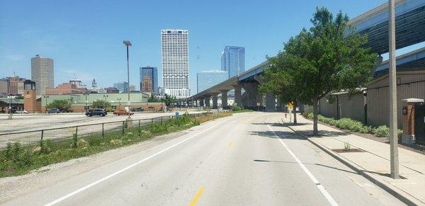
<path id="1" fill-rule="evenodd" d="M 425 41 L 425 1 L 399 0 L 395 6 L 396 48 L 407 47 Z M 353 18 L 348 22 L 356 33 L 368 35 L 368 46 L 379 55 L 388 52 L 388 6 L 382 4 L 368 12 Z M 217 108 L 217 99 L 221 94 L 222 107 L 227 108 L 227 92 L 234 89 L 234 103 L 246 108 L 257 108 L 263 96 L 266 98 L 265 110 L 276 110 L 276 97 L 271 93 L 259 93 L 261 73 L 268 66 L 268 61 L 242 72 L 220 84 L 212 86 L 186 99 L 188 105 L 201 105 Z M 397 57 L 397 69 L 415 67 L 424 69 L 425 48 L 409 52 Z M 381 74 L 388 69 L 387 61 L 375 69 L 375 74 Z M 242 94 L 242 88 L 244 93 Z M 210 100 L 212 99 L 212 105 Z M 279 103 L 278 103 L 279 107 Z"/>

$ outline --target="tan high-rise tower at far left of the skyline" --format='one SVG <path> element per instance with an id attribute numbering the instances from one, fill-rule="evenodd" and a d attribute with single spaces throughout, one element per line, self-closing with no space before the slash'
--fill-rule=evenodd
<path id="1" fill-rule="evenodd" d="M 53 88 L 55 82 L 53 59 L 40 55 L 31 58 L 31 80 L 35 82 L 37 96 L 45 94 L 46 88 Z"/>

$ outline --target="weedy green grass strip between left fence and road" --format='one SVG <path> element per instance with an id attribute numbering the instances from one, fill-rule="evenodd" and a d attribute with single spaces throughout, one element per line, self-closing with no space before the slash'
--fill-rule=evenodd
<path id="1" fill-rule="evenodd" d="M 197 116 L 181 115 L 178 119 L 154 122 L 140 127 L 128 127 L 102 134 L 53 141 L 40 140 L 37 145 L 23 146 L 19 142 L 9 142 L 0 151 L 0 178 L 19 176 L 49 164 L 55 164 L 82 156 L 90 156 L 102 151 L 125 147 L 151 139 L 159 135 L 186 130 L 203 122 L 232 115 L 232 113 L 203 113 Z"/>

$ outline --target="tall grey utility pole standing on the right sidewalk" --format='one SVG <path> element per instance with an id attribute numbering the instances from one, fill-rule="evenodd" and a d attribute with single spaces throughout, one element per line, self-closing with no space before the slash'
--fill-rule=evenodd
<path id="1" fill-rule="evenodd" d="M 390 71 L 388 74 L 388 84 L 390 86 L 390 170 L 391 178 L 399 178 L 399 157 L 397 138 L 397 84 L 396 84 L 396 64 L 395 64 L 395 0 L 388 1 L 389 15 L 389 50 Z"/>

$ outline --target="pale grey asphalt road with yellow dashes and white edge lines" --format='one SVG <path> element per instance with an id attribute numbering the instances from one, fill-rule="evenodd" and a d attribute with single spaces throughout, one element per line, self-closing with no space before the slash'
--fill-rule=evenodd
<path id="1" fill-rule="evenodd" d="M 279 115 L 243 113 L 207 122 L 3 203 L 403 205 L 278 124 Z"/>

